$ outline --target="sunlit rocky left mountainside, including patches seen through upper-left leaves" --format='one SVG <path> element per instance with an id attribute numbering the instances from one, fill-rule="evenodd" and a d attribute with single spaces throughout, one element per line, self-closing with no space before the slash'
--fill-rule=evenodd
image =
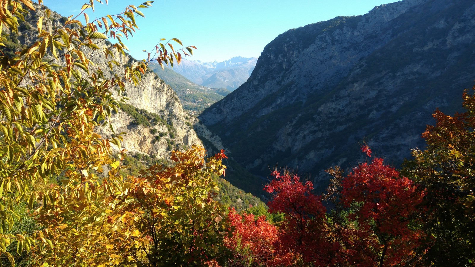
<path id="1" fill-rule="evenodd" d="M 25 21 L 19 21 L 20 34 L 10 34 L 8 47 L 3 48 L 2 52 L 13 53 L 25 44 L 36 41 L 36 21 L 38 17 L 44 16 L 45 11 L 43 6 L 35 6 L 36 10 L 30 11 Z M 43 27 L 61 27 L 65 21 L 66 18 L 52 12 L 50 18 L 43 22 Z M 86 57 L 91 57 L 87 51 L 85 53 Z M 115 57 L 119 65 L 114 69 L 117 73 L 123 73 L 125 65 L 132 65 L 136 61 L 128 55 L 123 57 L 115 54 Z M 94 61 L 98 66 L 107 66 L 103 56 L 94 57 Z M 112 72 L 104 71 L 105 77 L 111 78 L 112 75 Z M 171 150 L 186 149 L 193 144 L 202 145 L 192 126 L 196 118 L 183 110 L 175 92 L 152 71 L 143 75 L 138 86 L 127 83 L 126 95 L 130 99 L 111 118 L 117 133 L 127 133 L 123 135 L 123 148 L 132 153 L 168 159 Z M 104 136 L 112 134 L 108 127 L 97 131 Z"/>

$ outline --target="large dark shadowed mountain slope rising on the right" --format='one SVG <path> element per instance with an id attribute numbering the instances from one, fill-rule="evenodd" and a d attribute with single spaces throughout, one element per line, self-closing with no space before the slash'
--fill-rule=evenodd
<path id="1" fill-rule="evenodd" d="M 323 191 L 324 170 L 354 166 L 363 142 L 395 165 L 409 157 L 436 107 L 459 109 L 474 78 L 474 1 L 403 0 L 279 35 L 199 119 L 247 171 L 289 167 Z"/>

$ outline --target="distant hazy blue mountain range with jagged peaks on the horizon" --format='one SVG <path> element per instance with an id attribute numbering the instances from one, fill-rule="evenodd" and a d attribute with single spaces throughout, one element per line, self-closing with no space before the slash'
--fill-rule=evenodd
<path id="1" fill-rule="evenodd" d="M 256 62 L 257 57 L 233 57 L 222 62 L 182 59 L 173 70 L 198 85 L 233 91 L 247 81 Z"/>

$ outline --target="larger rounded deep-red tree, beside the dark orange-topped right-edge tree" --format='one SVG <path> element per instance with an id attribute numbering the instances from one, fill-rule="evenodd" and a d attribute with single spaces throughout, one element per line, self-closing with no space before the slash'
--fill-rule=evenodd
<path id="1" fill-rule="evenodd" d="M 371 155 L 368 146 L 363 152 Z M 414 183 L 383 160 L 361 163 L 342 179 L 342 253 L 351 265 L 395 266 L 415 260 L 422 230 L 418 205 L 424 196 Z"/>

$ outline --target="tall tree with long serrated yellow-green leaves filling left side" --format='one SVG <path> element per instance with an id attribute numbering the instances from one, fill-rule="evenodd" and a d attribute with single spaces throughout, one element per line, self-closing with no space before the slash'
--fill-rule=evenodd
<path id="1" fill-rule="evenodd" d="M 9 251 L 16 244 L 18 253 L 38 249 L 38 264 L 119 264 L 123 256 L 114 244 L 129 238 L 129 213 L 115 221 L 109 213 L 120 210 L 117 199 L 128 189 L 109 155 L 110 142 L 120 146 L 120 136 L 108 140 L 94 130 L 117 110 L 113 95 L 123 95 L 125 84 L 136 84 L 145 73 L 146 61 L 121 68 L 117 57 L 125 55 L 121 38 L 135 32 L 135 16 L 143 16 L 139 9 L 151 2 L 89 21 L 85 10 L 94 10 L 91 0 L 56 29 L 44 23 L 51 11 L 31 0 L 0 2 L 1 40 L 18 32 L 28 10 L 38 14 L 38 40 L 0 56 L 0 257 L 13 265 Z M 109 45 L 106 38 L 117 42 Z M 156 46 L 159 63 L 180 62 L 178 50 L 165 45 Z M 107 60 L 97 64 L 98 57 Z M 122 73 L 106 76 L 106 69 Z M 99 178 L 106 164 L 114 167 Z M 21 218 L 16 203 L 35 208 L 42 229 L 11 234 Z"/>

